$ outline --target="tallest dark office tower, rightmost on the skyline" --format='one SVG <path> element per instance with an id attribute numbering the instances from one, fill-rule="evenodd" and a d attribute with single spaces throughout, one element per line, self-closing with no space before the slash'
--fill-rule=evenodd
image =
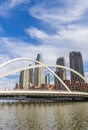
<path id="1" fill-rule="evenodd" d="M 70 68 L 76 70 L 84 76 L 83 59 L 80 52 L 71 52 L 69 54 Z M 71 72 L 71 82 L 84 82 L 79 76 Z"/>

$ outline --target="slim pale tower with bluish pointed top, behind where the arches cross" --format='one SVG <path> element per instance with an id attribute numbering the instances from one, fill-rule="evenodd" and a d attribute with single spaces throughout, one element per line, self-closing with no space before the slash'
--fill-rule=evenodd
<path id="1" fill-rule="evenodd" d="M 43 63 L 42 54 L 38 54 L 36 60 Z M 35 64 L 37 65 L 38 63 Z M 35 68 L 34 71 L 34 85 L 41 86 L 44 83 L 44 67 Z"/>

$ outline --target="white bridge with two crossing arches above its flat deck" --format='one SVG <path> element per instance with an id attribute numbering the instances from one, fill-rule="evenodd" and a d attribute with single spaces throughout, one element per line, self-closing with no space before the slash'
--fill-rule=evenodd
<path id="1" fill-rule="evenodd" d="M 33 65 L 33 66 L 26 66 L 26 67 L 21 67 L 21 68 L 17 68 L 15 70 L 11 70 L 9 72 L 0 74 L 0 78 L 4 77 L 4 76 L 8 76 L 11 75 L 13 73 L 19 72 L 21 70 L 26 70 L 26 69 L 31 69 L 31 68 L 39 68 L 39 67 L 45 67 L 47 70 L 49 70 L 62 84 L 63 86 L 66 88 L 67 91 L 32 91 L 32 90 L 27 90 L 27 91 L 23 91 L 23 90 L 2 90 L 0 91 L 0 97 L 29 97 L 29 98 L 56 98 L 56 99 L 82 99 L 82 100 L 87 100 L 88 99 L 88 93 L 87 92 L 74 92 L 71 91 L 69 89 L 69 87 L 61 80 L 61 78 L 55 74 L 55 72 L 52 71 L 52 69 L 50 67 L 59 67 L 59 68 L 63 68 L 63 69 L 67 69 L 72 71 L 73 73 L 77 74 L 78 76 L 80 76 L 85 82 L 88 83 L 88 81 L 85 79 L 85 77 L 83 77 L 80 73 L 76 72 L 75 70 L 65 67 L 65 66 L 61 66 L 61 65 L 46 65 L 43 63 L 40 63 L 39 61 L 36 61 L 34 59 L 31 58 L 17 58 L 17 59 L 13 59 L 10 61 L 7 61 L 3 64 L 0 65 L 0 69 L 12 62 L 16 62 L 16 61 L 22 61 L 22 60 L 27 60 L 27 61 L 33 61 L 35 63 L 38 63 L 38 65 Z"/>

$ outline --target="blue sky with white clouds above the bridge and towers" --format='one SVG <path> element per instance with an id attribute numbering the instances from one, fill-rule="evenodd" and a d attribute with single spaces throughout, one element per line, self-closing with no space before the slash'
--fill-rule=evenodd
<path id="1" fill-rule="evenodd" d="M 0 0 L 0 64 L 42 53 L 46 64 L 63 56 L 69 66 L 71 51 L 82 53 L 87 78 L 88 0 Z M 0 87 L 14 86 L 12 77 L 0 79 Z"/>

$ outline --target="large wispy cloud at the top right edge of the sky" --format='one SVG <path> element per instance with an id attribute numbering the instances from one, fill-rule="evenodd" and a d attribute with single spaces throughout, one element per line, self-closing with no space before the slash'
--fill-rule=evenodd
<path id="1" fill-rule="evenodd" d="M 82 0 L 62 0 L 62 5 L 60 6 L 58 0 L 55 0 L 53 5 L 52 2 L 42 2 L 29 9 L 29 13 L 51 26 L 58 27 L 59 24 L 82 19 L 88 9 L 88 0 L 85 0 L 85 2 Z"/>

